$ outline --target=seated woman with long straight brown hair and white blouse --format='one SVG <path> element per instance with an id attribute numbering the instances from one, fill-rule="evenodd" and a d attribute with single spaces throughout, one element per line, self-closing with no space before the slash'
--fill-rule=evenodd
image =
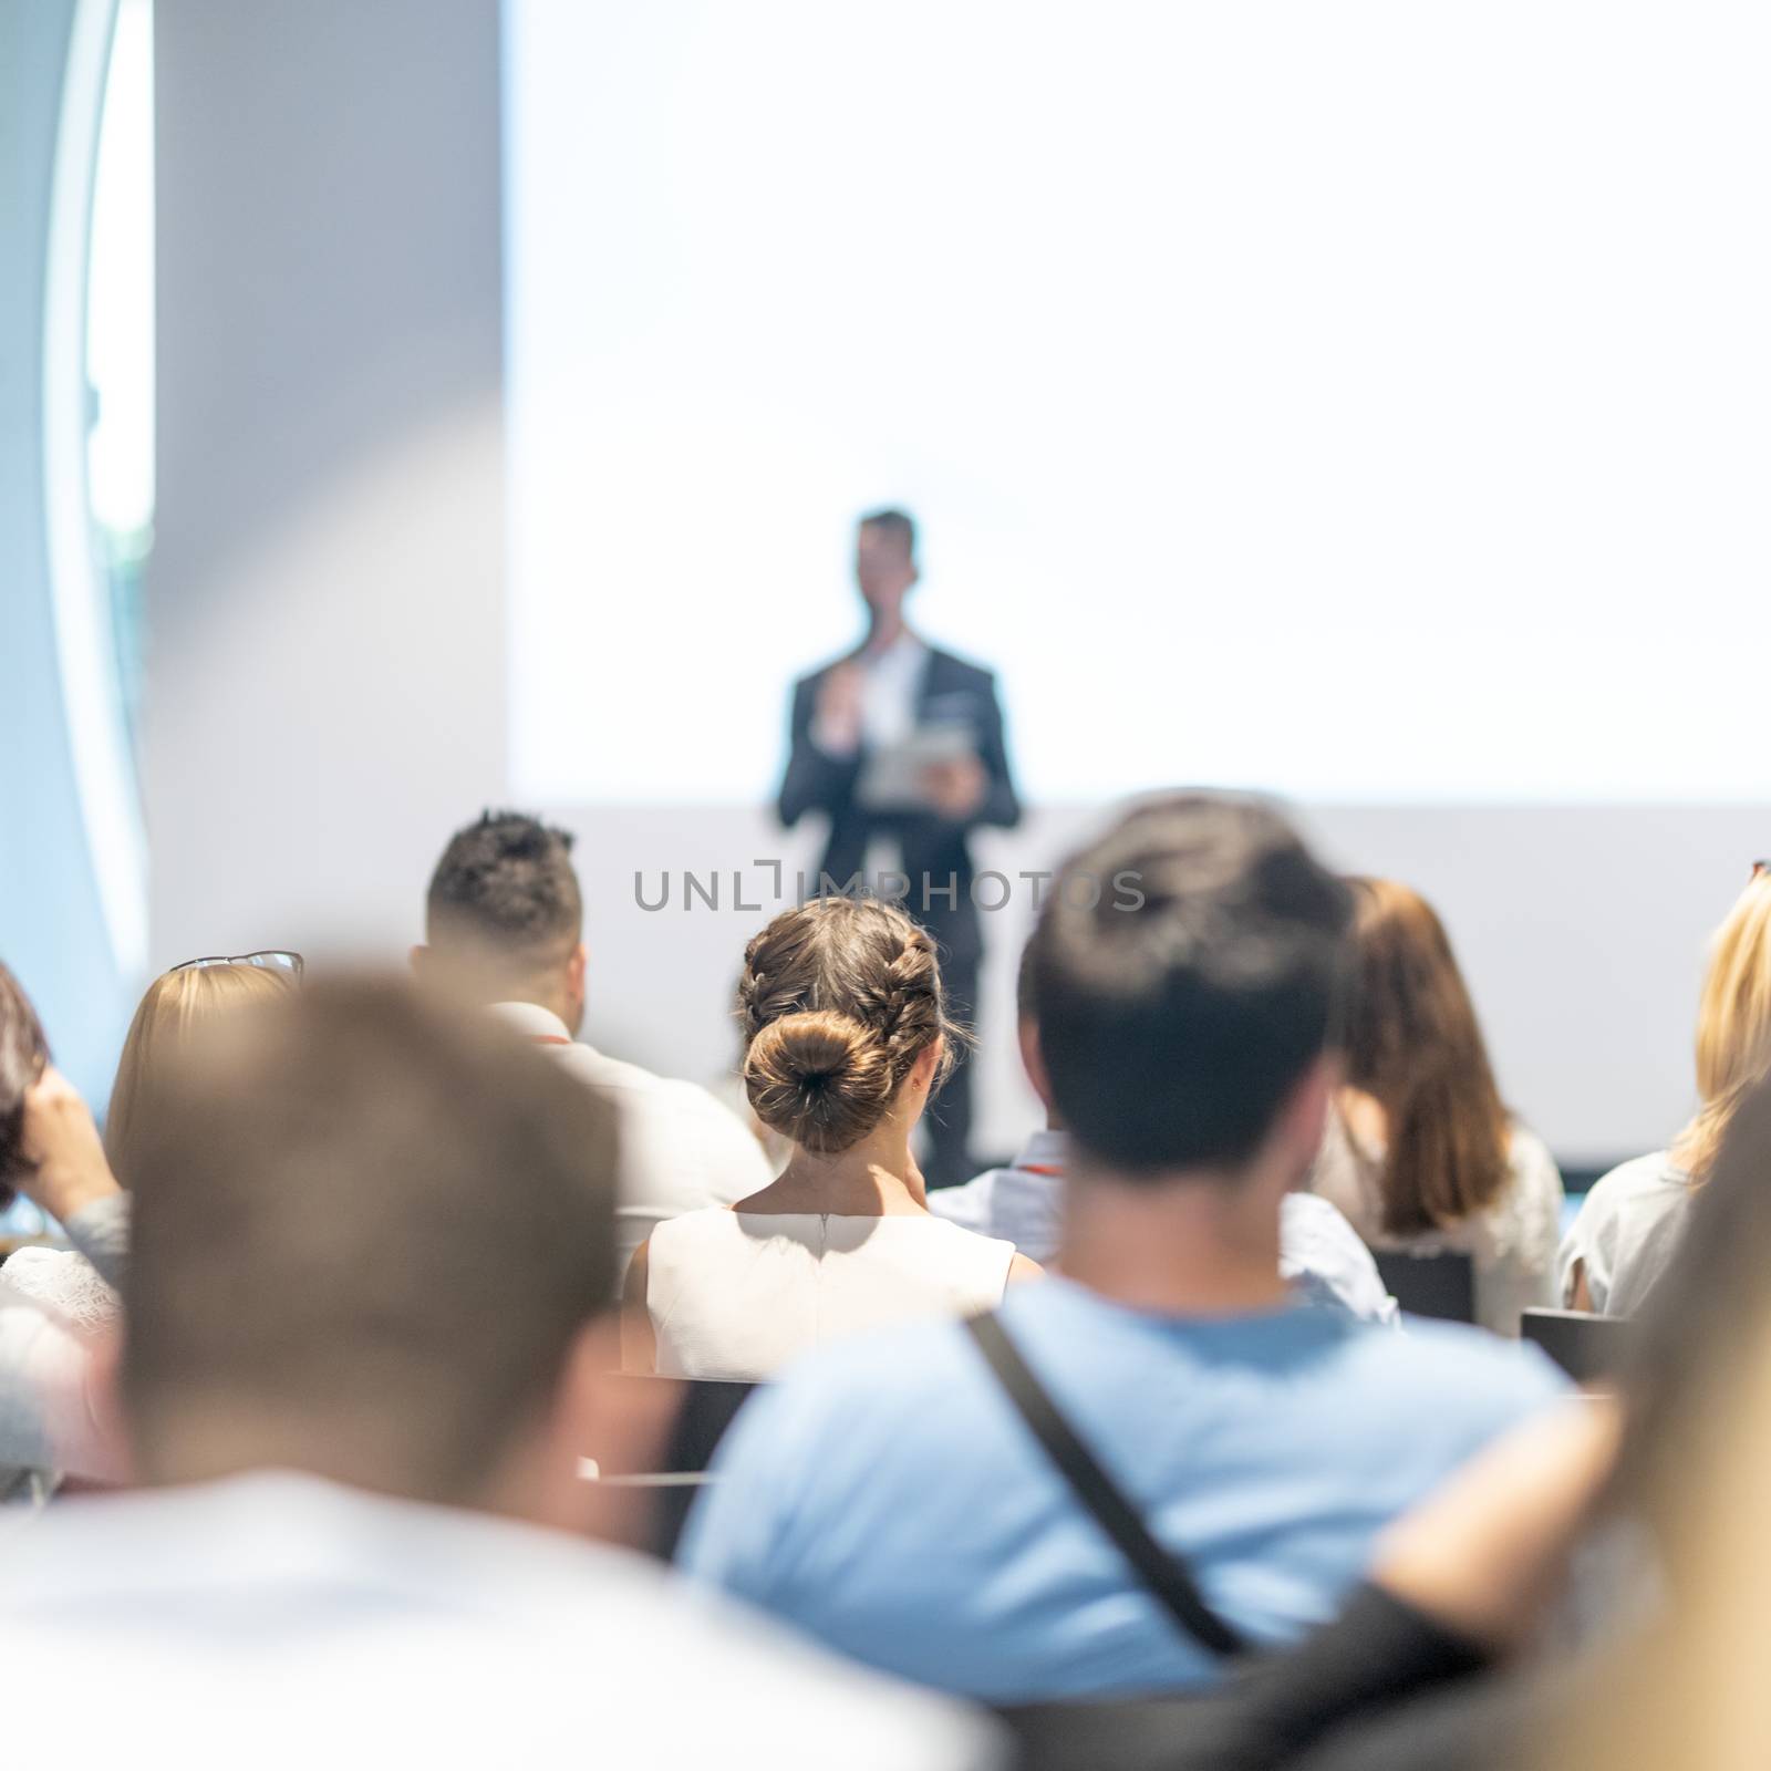
<path id="1" fill-rule="evenodd" d="M 1346 1073 L 1311 1185 L 1374 1249 L 1458 1250 L 1475 1319 L 1518 1335 L 1555 1302 L 1562 1176 L 1507 1114 L 1475 1006 L 1433 907 L 1394 880 L 1353 880 Z"/>

